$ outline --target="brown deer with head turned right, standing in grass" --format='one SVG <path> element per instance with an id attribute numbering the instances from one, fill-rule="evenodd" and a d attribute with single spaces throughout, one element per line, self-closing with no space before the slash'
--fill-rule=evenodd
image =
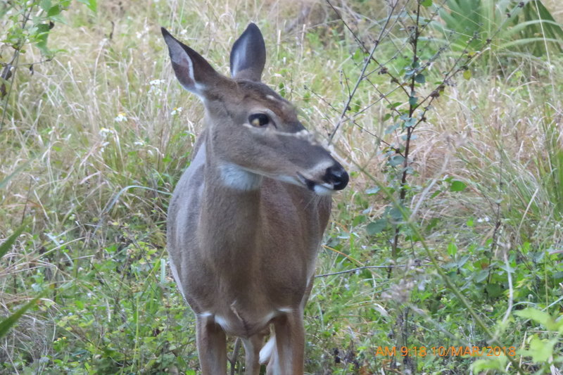
<path id="1" fill-rule="evenodd" d="M 260 82 L 258 26 L 234 42 L 231 77 L 161 31 L 177 80 L 205 107 L 167 211 L 170 268 L 195 314 L 201 373 L 226 374 L 229 335 L 241 339 L 246 375 L 261 364 L 267 374 L 303 374 L 303 310 L 331 194 L 348 173 L 296 108 Z"/>

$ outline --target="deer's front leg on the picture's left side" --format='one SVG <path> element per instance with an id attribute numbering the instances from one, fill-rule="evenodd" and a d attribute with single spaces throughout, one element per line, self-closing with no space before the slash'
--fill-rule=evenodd
<path id="1" fill-rule="evenodd" d="M 213 317 L 196 317 L 196 341 L 203 375 L 227 374 L 227 336 Z"/>

